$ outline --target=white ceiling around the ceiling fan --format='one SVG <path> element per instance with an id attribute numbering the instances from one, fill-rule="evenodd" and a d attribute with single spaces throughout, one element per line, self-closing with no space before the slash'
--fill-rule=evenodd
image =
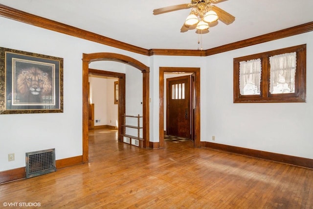
<path id="1" fill-rule="evenodd" d="M 195 30 L 181 33 L 190 9 L 153 15 L 190 0 L 0 0 L 1 4 L 146 49 L 198 49 Z M 313 0 L 225 0 L 215 4 L 236 17 L 202 34 L 202 48 L 245 40 L 313 21 Z"/>

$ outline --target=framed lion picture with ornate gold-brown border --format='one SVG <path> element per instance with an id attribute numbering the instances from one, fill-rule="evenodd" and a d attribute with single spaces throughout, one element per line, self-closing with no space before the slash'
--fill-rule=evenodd
<path id="1" fill-rule="evenodd" d="M 63 113 L 63 58 L 0 47 L 0 114 Z"/>

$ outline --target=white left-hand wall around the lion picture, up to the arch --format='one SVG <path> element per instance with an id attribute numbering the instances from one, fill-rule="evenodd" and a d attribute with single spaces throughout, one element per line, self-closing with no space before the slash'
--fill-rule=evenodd
<path id="1" fill-rule="evenodd" d="M 55 148 L 56 160 L 82 155 L 83 53 L 120 53 L 149 66 L 149 57 L 140 54 L 2 17 L 0 25 L 0 47 L 64 58 L 64 113 L 0 115 L 0 171 L 25 166 L 31 151 Z M 15 161 L 8 162 L 9 153 Z"/>

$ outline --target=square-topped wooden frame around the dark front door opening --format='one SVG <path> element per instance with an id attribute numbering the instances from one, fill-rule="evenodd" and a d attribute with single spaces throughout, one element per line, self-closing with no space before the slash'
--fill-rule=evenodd
<path id="1" fill-rule="evenodd" d="M 201 147 L 200 142 L 200 125 L 201 125 L 201 108 L 200 108 L 200 68 L 177 68 L 177 67 L 160 67 L 159 68 L 159 147 L 164 147 L 164 72 L 191 72 L 195 73 L 195 91 L 196 91 L 196 109 L 195 109 L 195 144 Z M 192 110 L 190 110 L 192 111 Z"/>

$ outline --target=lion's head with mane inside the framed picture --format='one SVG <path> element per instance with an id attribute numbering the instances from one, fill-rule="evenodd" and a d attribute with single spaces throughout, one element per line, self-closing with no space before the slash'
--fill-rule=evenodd
<path id="1" fill-rule="evenodd" d="M 23 95 L 47 95 L 51 92 L 48 73 L 38 68 L 23 69 L 18 75 L 17 90 Z"/>

